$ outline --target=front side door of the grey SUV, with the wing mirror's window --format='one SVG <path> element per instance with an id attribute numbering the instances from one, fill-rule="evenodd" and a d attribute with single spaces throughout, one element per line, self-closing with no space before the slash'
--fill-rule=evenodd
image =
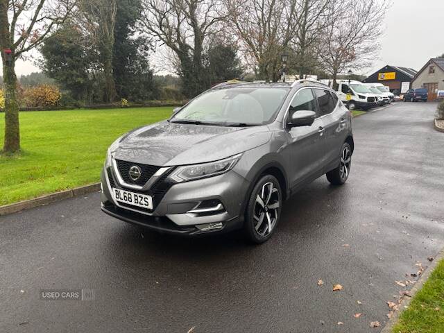
<path id="1" fill-rule="evenodd" d="M 298 110 L 318 113 L 316 97 L 311 88 L 302 87 L 296 92 L 290 103 L 287 119 Z M 319 117 L 314 120 L 311 126 L 288 128 L 287 131 L 291 150 L 291 187 L 294 187 L 322 169 L 321 161 L 325 153 L 324 131 Z"/>

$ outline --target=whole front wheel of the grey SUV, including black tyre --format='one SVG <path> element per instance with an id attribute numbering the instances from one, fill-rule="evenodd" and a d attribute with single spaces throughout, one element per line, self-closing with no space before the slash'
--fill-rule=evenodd
<path id="1" fill-rule="evenodd" d="M 270 187 L 270 184 L 273 186 Z M 279 223 L 281 207 L 282 190 L 278 179 L 271 175 L 259 178 L 251 191 L 246 207 L 244 221 L 246 239 L 254 244 L 268 241 Z M 270 226 L 271 228 L 269 228 Z M 271 232 L 268 228 L 271 229 Z"/>

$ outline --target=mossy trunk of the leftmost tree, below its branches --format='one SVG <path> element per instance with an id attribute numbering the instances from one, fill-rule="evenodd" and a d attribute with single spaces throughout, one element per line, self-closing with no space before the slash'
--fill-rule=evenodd
<path id="1" fill-rule="evenodd" d="M 17 102 L 15 60 L 6 62 L 3 59 L 3 85 L 5 88 L 5 142 L 3 152 L 15 153 L 20 150 L 19 103 Z"/>

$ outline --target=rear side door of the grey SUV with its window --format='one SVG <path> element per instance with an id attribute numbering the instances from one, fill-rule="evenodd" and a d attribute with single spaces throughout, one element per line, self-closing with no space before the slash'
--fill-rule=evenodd
<path id="1" fill-rule="evenodd" d="M 315 88 L 319 108 L 319 125 L 324 130 L 323 167 L 339 159 L 341 147 L 345 142 L 350 126 L 350 111 L 341 103 L 334 92 L 329 89 Z"/>

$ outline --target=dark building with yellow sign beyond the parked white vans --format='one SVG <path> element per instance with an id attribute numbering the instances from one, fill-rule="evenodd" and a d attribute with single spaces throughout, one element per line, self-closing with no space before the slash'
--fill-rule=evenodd
<path id="1" fill-rule="evenodd" d="M 416 70 L 412 68 L 386 65 L 365 78 L 363 82 L 382 83 L 387 85 L 391 92 L 398 90 L 402 94 L 410 88 L 410 82 L 415 75 Z"/>

